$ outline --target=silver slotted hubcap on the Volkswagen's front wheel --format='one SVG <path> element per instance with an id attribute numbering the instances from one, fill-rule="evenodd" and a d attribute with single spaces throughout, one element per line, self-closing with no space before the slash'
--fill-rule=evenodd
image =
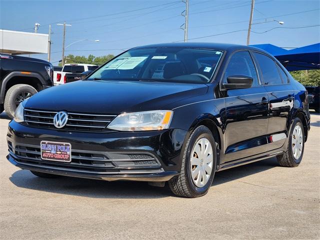
<path id="1" fill-rule="evenodd" d="M 191 155 L 191 178 L 197 187 L 204 186 L 211 175 L 213 154 L 208 139 L 200 138 L 193 146 Z"/>

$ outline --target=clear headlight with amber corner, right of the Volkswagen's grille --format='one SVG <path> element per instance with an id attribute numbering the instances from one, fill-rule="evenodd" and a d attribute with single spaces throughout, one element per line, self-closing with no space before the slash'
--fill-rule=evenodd
<path id="1" fill-rule="evenodd" d="M 155 110 L 122 113 L 107 126 L 119 131 L 161 130 L 169 127 L 173 111 Z"/>

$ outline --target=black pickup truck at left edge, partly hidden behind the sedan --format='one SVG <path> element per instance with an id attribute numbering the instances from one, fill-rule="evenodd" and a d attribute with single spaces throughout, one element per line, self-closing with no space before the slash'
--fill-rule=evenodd
<path id="1" fill-rule="evenodd" d="M 25 98 L 53 86 L 50 62 L 0 53 L 0 113 L 13 117 Z"/>

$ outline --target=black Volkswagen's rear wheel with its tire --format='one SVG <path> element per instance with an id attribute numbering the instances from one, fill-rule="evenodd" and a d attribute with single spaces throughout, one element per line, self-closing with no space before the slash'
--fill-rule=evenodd
<path id="1" fill-rule="evenodd" d="M 301 134 L 300 137 L 302 137 L 301 139 L 301 144 L 302 146 L 299 147 L 300 143 L 299 143 L 299 139 L 300 137 L 298 137 L 298 133 L 297 131 L 295 131 L 295 129 L 301 129 Z M 293 138 L 297 139 L 296 142 L 293 142 Z M 294 155 L 293 152 L 293 146 L 296 146 L 296 151 L 299 151 L 299 149 L 301 149 L 301 153 L 298 155 Z M 298 166 L 301 162 L 302 156 L 303 156 L 303 150 L 304 150 L 304 128 L 303 128 L 303 124 L 300 120 L 300 118 L 296 117 L 293 120 L 292 126 L 291 126 L 291 131 L 289 134 L 289 139 L 288 139 L 288 145 L 286 147 L 286 151 L 282 154 L 282 155 L 278 155 L 277 160 L 280 166 L 286 166 L 286 167 L 295 167 Z M 298 152 L 297 152 L 298 153 Z"/>

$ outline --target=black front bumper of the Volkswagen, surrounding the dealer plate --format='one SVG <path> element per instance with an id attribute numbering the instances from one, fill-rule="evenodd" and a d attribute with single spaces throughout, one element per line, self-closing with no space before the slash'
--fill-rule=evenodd
<path id="1" fill-rule="evenodd" d="M 187 131 L 70 132 L 29 127 L 11 121 L 7 159 L 17 167 L 102 180 L 166 181 L 181 169 Z M 42 160 L 40 141 L 71 143 L 70 163 Z"/>

